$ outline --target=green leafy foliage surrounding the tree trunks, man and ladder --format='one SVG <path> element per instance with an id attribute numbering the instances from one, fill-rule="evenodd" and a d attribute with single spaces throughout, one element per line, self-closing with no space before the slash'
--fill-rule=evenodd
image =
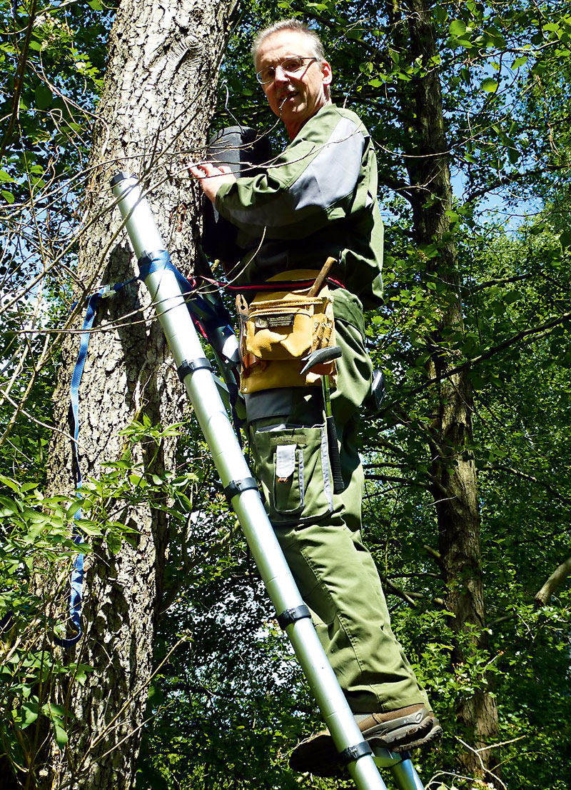
<path id="1" fill-rule="evenodd" d="M 476 786 L 458 775 L 457 758 L 471 744 L 456 714 L 485 690 L 498 702 L 502 743 L 496 778 L 486 779 L 564 790 L 569 589 L 543 608 L 534 596 L 569 555 L 571 6 L 431 3 L 438 55 L 426 60 L 408 46 L 410 21 L 396 15 L 397 5 L 243 4 L 222 67 L 216 126 L 239 119 L 270 130 L 276 149 L 284 145 L 254 79 L 244 78 L 252 73 L 250 37 L 280 17 L 317 25 L 331 53 L 335 99 L 359 112 L 378 151 L 386 300 L 368 317 L 367 337 L 389 396 L 381 416 L 363 425 L 364 521 L 393 626 L 445 728 L 437 750 L 415 759 L 433 790 Z M 69 535 L 76 521 L 93 551 L 103 544 L 121 551 L 123 540 L 137 540 L 122 525 L 122 507 L 144 498 L 171 518 L 172 534 L 137 786 L 343 786 L 287 769 L 288 749 L 319 726 L 317 712 L 196 427 L 185 427 L 178 468 L 156 476 L 133 465 L 129 452 L 130 442 L 160 444 L 163 429 L 141 417 L 128 431 L 125 457 L 85 487 L 79 522 L 72 499 L 43 498 L 27 482 L 42 480 L 59 337 L 46 333 L 69 320 L 74 245 L 83 232 L 77 196 L 87 174 L 73 179 L 85 167 L 111 11 L 98 2 L 31 3 L 14 14 L 0 3 L 7 79 L 0 96 L 2 747 L 21 770 L 32 765 L 46 728 L 65 747 L 67 690 L 89 672 L 51 644 L 76 549 Z M 416 229 L 437 198 L 430 182 L 416 178 L 413 107 L 415 90 L 434 73 L 454 198 L 444 231 L 419 244 Z M 456 290 L 438 271 L 450 244 Z M 458 294 L 462 327 L 443 326 Z M 435 329 L 438 353 L 468 371 L 474 393 L 463 452 L 478 470 L 486 622 L 460 634 L 445 606 L 438 556 L 430 455 L 438 398 L 427 373 Z M 453 660 L 459 650 L 462 660 Z"/>

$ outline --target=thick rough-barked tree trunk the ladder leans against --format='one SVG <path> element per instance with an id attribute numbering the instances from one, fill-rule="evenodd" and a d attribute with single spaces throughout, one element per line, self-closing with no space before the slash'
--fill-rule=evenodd
<path id="1" fill-rule="evenodd" d="M 77 298 L 103 283 L 129 280 L 133 255 L 109 186 L 117 171 L 138 175 L 175 265 L 193 266 L 199 203 L 184 162 L 204 145 L 216 98 L 216 76 L 236 0 L 123 0 L 92 148 L 86 222 L 79 246 Z M 184 153 L 187 155 L 184 156 Z M 115 235 L 117 238 L 115 238 Z M 138 310 L 138 312 L 133 312 Z M 118 461 L 119 431 L 146 413 L 152 424 L 181 419 L 186 397 L 153 320 L 145 286 L 131 285 L 103 304 L 92 333 L 81 385 L 82 476 L 98 476 Z M 69 380 L 77 355 L 70 337 L 58 382 L 59 424 L 67 424 Z M 155 456 L 148 442 L 134 462 Z M 175 440 L 163 440 L 150 471 L 171 468 Z M 69 439 L 56 435 L 50 490 L 73 491 Z M 124 507 L 119 521 L 137 529 L 137 546 L 111 554 L 97 542 L 86 562 L 82 626 L 71 660 L 90 664 L 85 687 L 69 690 L 72 719 L 66 751 L 51 751 L 42 787 L 131 788 L 152 673 L 153 635 L 160 611 L 168 525 L 143 503 Z"/>

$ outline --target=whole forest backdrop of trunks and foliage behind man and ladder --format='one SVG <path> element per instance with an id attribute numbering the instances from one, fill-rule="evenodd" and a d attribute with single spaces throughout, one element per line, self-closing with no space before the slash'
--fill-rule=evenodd
<path id="1" fill-rule="evenodd" d="M 81 502 L 66 419 L 85 299 L 134 270 L 109 178 L 141 177 L 189 274 L 186 164 L 236 122 L 285 145 L 249 47 L 295 16 L 378 155 L 367 342 L 388 397 L 363 421 L 364 524 L 445 730 L 415 763 L 433 790 L 566 790 L 571 3 L 175 6 L 0 0 L 7 786 L 345 786 L 287 768 L 314 702 L 137 285 L 94 325 Z M 74 525 L 83 634 L 64 651 Z"/>

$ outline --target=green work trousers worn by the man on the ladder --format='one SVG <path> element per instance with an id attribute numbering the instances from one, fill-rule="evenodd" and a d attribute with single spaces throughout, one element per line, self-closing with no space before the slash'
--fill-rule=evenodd
<path id="1" fill-rule="evenodd" d="M 332 393 L 345 489 L 332 493 L 321 388 L 246 399 L 265 506 L 317 634 L 354 713 L 428 700 L 390 626 L 374 560 L 361 538 L 363 467 L 355 445 L 372 366 L 356 322 L 336 320 L 343 355 Z"/>

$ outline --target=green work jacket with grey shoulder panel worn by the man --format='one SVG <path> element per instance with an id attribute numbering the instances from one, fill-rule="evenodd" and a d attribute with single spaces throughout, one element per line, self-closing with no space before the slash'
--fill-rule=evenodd
<path id="1" fill-rule="evenodd" d="M 377 162 L 354 112 L 321 107 L 262 175 L 221 186 L 216 209 L 239 228 L 239 245 L 250 248 L 236 267 L 237 284 L 321 269 L 331 256 L 349 293 L 366 308 L 381 303 Z M 336 292 L 340 308 L 343 300 Z"/>

